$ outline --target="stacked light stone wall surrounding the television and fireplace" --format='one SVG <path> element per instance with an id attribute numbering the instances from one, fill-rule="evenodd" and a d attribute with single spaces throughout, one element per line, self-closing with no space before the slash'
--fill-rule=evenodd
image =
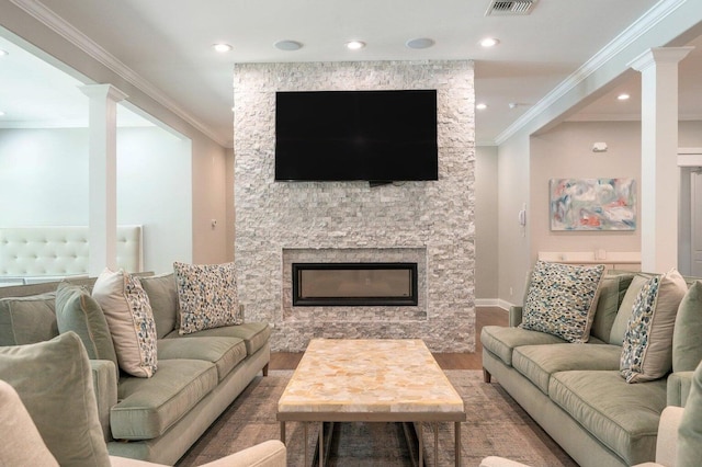
<path id="1" fill-rule="evenodd" d="M 437 89 L 439 181 L 274 182 L 275 92 Z M 236 65 L 235 205 L 239 299 L 274 326 L 275 351 L 312 338 L 423 339 L 475 350 L 474 77 L 471 61 Z M 333 157 L 333 155 L 329 155 Z M 417 261 L 417 307 L 293 307 L 290 267 Z"/>

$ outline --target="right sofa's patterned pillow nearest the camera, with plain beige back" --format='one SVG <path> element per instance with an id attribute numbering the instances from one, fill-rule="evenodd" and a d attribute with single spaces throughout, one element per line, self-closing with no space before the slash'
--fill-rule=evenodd
<path id="1" fill-rule="evenodd" d="M 652 277 L 639 291 L 622 345 L 620 372 L 626 383 L 658 379 L 672 368 L 672 331 L 686 292 L 676 270 Z"/>

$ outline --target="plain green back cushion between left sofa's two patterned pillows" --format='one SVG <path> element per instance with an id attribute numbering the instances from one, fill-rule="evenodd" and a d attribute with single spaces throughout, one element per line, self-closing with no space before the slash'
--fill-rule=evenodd
<path id="1" fill-rule="evenodd" d="M 178 288 L 173 273 L 139 277 L 141 287 L 149 296 L 156 333 L 159 339 L 180 327 L 180 308 L 178 306 Z"/>

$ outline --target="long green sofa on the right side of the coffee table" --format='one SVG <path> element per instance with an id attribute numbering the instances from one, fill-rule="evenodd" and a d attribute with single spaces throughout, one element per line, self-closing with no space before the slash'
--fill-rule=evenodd
<path id="1" fill-rule="evenodd" d="M 693 300 L 677 315 L 672 372 L 636 384 L 621 376 L 626 327 L 621 317 L 626 310 L 631 314 L 631 303 L 622 301 L 630 286 L 641 286 L 641 281 L 633 281 L 637 274 L 646 276 L 605 273 L 587 343 L 519 328 L 518 306 L 510 309 L 509 327 L 488 326 L 480 333 L 485 381 L 495 377 L 585 467 L 653 462 L 660 413 L 667 406 L 684 406 L 692 373 L 702 360 L 702 304 Z M 688 286 L 695 281 L 686 277 Z"/>

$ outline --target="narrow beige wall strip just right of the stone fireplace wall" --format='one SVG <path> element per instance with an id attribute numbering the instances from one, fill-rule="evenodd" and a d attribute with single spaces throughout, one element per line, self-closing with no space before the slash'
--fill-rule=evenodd
<path id="1" fill-rule="evenodd" d="M 475 298 L 495 305 L 499 281 L 497 146 L 475 149 Z M 478 301 L 482 300 L 482 301 Z"/>

